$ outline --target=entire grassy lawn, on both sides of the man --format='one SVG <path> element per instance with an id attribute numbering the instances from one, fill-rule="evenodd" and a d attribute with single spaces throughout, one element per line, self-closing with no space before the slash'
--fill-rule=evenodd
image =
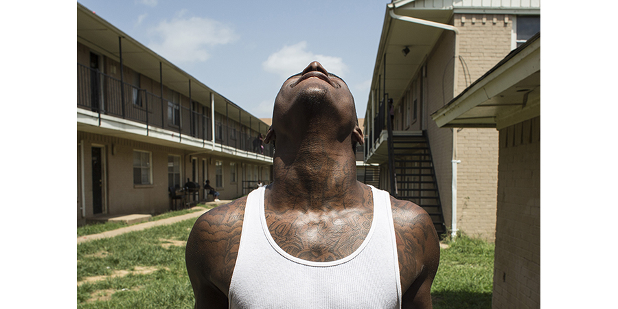
<path id="1" fill-rule="evenodd" d="M 185 242 L 195 218 L 78 244 L 78 308 L 193 308 Z M 460 237 L 441 250 L 434 308 L 491 308 L 494 246 Z"/>

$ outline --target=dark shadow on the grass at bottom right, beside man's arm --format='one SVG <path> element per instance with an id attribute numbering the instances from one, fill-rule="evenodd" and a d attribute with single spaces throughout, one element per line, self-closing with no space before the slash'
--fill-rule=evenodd
<path id="1" fill-rule="evenodd" d="M 434 309 L 492 308 L 492 293 L 444 291 L 431 293 Z"/>

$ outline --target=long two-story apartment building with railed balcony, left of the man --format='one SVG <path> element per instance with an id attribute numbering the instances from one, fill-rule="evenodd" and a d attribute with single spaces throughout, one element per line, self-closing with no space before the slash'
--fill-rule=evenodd
<path id="1" fill-rule="evenodd" d="M 271 182 L 268 125 L 77 5 L 77 222 L 157 214 L 187 183 L 231 199 Z"/>

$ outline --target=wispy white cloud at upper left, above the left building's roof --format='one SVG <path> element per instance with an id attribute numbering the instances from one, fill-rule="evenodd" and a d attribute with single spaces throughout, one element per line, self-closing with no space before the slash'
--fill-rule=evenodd
<path id="1" fill-rule="evenodd" d="M 234 30 L 213 19 L 183 18 L 181 11 L 171 20 L 164 20 L 151 30 L 155 41 L 148 47 L 172 62 L 206 61 L 209 49 L 238 39 Z"/>

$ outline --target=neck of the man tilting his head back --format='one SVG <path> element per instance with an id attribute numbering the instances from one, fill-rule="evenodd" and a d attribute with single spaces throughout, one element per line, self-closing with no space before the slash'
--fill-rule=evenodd
<path id="1" fill-rule="evenodd" d="M 293 147 L 283 148 L 275 150 L 275 181 L 268 193 L 271 205 L 302 211 L 353 206 L 346 201 L 350 201 L 350 195 L 361 194 L 362 188 L 356 181 L 351 144 L 306 137 Z"/>

